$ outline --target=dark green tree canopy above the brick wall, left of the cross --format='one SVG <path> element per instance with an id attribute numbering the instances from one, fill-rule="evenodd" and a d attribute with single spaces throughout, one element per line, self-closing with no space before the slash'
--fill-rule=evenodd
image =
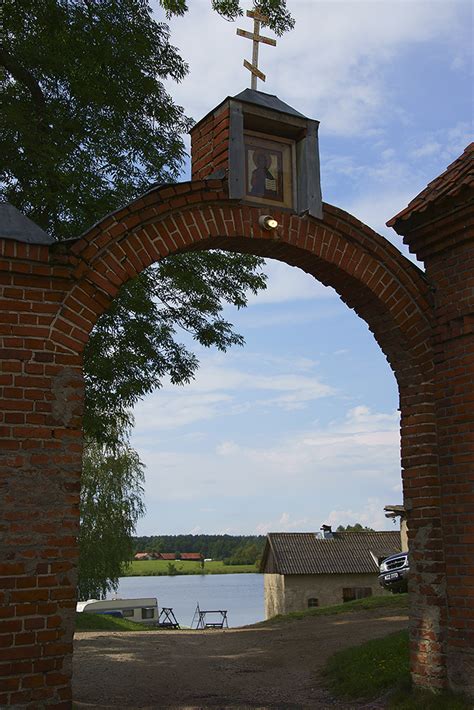
<path id="1" fill-rule="evenodd" d="M 162 0 L 168 16 L 187 10 Z M 257 3 L 278 33 L 284 0 Z M 213 0 L 228 19 L 236 0 Z M 192 125 L 163 86 L 187 65 L 145 0 L 4 0 L 0 65 L 4 194 L 56 238 L 75 237 L 149 188 L 175 181 Z"/>

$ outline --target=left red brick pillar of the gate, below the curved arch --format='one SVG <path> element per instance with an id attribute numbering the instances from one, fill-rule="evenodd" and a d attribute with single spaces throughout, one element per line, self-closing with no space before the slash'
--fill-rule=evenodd
<path id="1" fill-rule="evenodd" d="M 49 261 L 0 239 L 0 707 L 71 707 L 83 381 Z"/>

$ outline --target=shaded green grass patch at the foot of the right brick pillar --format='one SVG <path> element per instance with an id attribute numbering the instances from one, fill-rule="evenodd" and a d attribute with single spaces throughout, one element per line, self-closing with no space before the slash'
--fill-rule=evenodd
<path id="1" fill-rule="evenodd" d="M 398 631 L 332 656 L 324 682 L 334 697 L 373 700 L 385 696 L 391 710 L 471 710 L 464 698 L 411 687 L 408 631 Z"/>

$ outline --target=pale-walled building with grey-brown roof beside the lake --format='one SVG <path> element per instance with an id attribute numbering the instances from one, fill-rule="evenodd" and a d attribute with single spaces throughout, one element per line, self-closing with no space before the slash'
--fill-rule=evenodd
<path id="1" fill-rule="evenodd" d="M 386 592 L 379 564 L 400 552 L 400 533 L 269 533 L 260 571 L 264 573 L 265 617 L 310 607 L 341 604 Z"/>

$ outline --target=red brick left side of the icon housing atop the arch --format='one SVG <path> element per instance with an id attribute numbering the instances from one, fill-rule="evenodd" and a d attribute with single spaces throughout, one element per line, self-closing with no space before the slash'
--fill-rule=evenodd
<path id="1" fill-rule="evenodd" d="M 191 131 L 192 179 L 204 180 L 229 167 L 229 106 L 210 114 Z"/>

